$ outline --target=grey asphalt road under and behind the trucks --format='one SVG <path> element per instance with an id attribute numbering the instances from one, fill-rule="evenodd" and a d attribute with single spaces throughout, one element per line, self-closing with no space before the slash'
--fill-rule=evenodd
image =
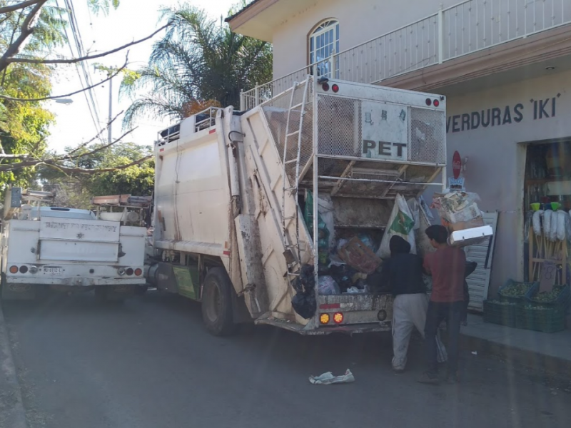
<path id="1" fill-rule="evenodd" d="M 256 327 L 208 335 L 200 307 L 149 292 L 4 305 L 31 428 L 568 427 L 561 384 L 467 352 L 463 383 L 430 387 L 413 347 L 390 370 L 390 337 L 300 337 Z M 350 368 L 356 382 L 314 386 Z M 568 387 L 568 386 L 567 386 Z"/>

